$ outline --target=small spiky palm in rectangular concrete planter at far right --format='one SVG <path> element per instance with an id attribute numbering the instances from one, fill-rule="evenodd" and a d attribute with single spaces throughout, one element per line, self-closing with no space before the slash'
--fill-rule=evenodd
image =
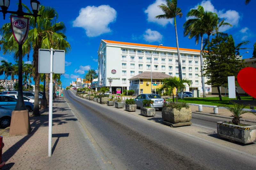
<path id="1" fill-rule="evenodd" d="M 232 107 L 223 107 L 231 112 L 233 119 L 232 121 L 217 122 L 218 135 L 222 138 L 244 144 L 256 142 L 256 125 L 240 123 L 241 115 L 250 112 L 245 109 L 246 105 L 233 103 Z M 253 114 L 256 115 L 256 113 Z"/>

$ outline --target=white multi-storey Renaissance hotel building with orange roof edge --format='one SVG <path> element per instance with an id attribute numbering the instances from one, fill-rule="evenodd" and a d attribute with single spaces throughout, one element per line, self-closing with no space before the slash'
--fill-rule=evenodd
<path id="1" fill-rule="evenodd" d="M 98 50 L 98 87 L 109 87 L 108 79 L 112 78 L 113 92 L 116 88 L 129 89 L 128 79 L 151 70 L 150 57 L 156 47 L 156 45 L 101 40 Z M 202 92 L 200 50 L 180 48 L 180 55 L 182 77 L 192 81 L 192 86 L 187 87 L 186 91 L 198 89 Z M 177 48 L 159 46 L 152 56 L 152 72 L 179 77 Z M 211 86 L 205 84 L 205 89 L 206 92 L 211 91 Z"/>

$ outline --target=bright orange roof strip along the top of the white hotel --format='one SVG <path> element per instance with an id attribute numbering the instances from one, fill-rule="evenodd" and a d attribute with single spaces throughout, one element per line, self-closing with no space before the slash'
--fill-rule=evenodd
<path id="1" fill-rule="evenodd" d="M 125 42 L 119 42 L 119 41 L 111 41 L 111 40 L 103 40 L 106 43 L 112 43 L 112 44 L 123 44 L 123 45 L 133 45 L 133 46 L 140 46 L 140 47 L 152 47 L 156 48 L 157 45 L 148 45 L 148 44 L 138 44 L 138 43 L 125 43 Z M 177 50 L 176 47 L 165 47 L 165 46 L 159 46 L 159 49 L 168 49 L 168 50 Z M 194 49 L 186 49 L 186 48 L 179 48 L 182 51 L 191 51 L 191 52 L 200 52 L 200 50 L 194 50 Z"/>

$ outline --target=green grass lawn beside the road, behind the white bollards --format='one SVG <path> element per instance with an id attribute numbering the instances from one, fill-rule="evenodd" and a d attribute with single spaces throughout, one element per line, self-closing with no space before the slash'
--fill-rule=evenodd
<path id="1" fill-rule="evenodd" d="M 241 99 L 242 100 L 252 100 L 252 97 L 241 97 Z M 206 97 L 206 98 L 186 97 L 184 99 L 178 99 L 178 102 L 219 106 L 219 105 L 229 105 L 229 100 L 233 100 L 233 99 L 229 99 L 228 97 L 222 97 L 222 101 L 220 101 L 219 97 Z"/>

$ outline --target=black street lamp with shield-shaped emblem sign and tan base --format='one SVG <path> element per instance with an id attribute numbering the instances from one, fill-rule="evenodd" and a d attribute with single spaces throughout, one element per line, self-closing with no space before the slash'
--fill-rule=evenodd
<path id="1" fill-rule="evenodd" d="M 28 21 L 28 18 L 24 18 L 23 16 L 24 15 L 34 16 L 36 21 L 36 17 L 41 15 L 38 15 L 40 2 L 37 0 L 30 0 L 30 5 L 32 7 L 33 13 L 23 12 L 21 0 L 19 0 L 17 11 L 7 11 L 9 5 L 10 5 L 10 0 L 0 0 L 0 7 L 2 9 L 0 10 L 0 12 L 3 12 L 4 19 L 5 19 L 6 13 L 17 15 L 17 16 L 11 16 L 12 34 L 15 40 L 17 41 L 17 43 L 19 44 L 18 100 L 17 100 L 16 107 L 12 112 L 12 121 L 11 121 L 11 127 L 10 127 L 10 136 L 11 136 L 11 135 L 28 134 L 30 130 L 30 124 L 28 121 L 28 111 L 24 104 L 23 92 L 22 92 L 22 44 L 24 43 L 28 35 L 29 21 Z M 24 122 L 24 123 L 26 122 L 26 124 L 23 125 L 21 122 Z"/>

